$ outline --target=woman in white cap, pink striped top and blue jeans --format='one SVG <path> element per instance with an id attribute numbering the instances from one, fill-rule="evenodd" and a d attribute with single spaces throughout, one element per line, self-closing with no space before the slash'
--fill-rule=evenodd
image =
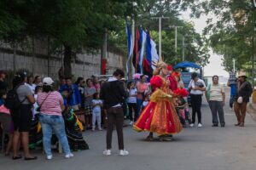
<path id="1" fill-rule="evenodd" d="M 53 89 L 53 83 L 54 81 L 50 77 L 45 77 L 43 80 L 43 93 L 38 94 L 37 99 L 40 107 L 38 117 L 43 130 L 44 151 L 48 160 L 53 157 L 51 152 L 52 132 L 59 139 L 65 153 L 65 158 L 73 157 L 67 141 L 64 119 L 61 115 L 65 106 L 61 94 Z"/>

